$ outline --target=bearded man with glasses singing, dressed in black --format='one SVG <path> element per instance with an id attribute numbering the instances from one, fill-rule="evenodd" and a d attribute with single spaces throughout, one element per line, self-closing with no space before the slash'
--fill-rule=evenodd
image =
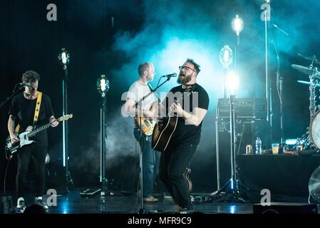
<path id="1" fill-rule="evenodd" d="M 161 105 L 161 110 L 165 110 L 166 113 L 168 110 L 177 113 L 178 120 L 170 144 L 160 156 L 159 172 L 160 180 L 178 204 L 177 212 L 188 213 L 193 211 L 193 207 L 183 172 L 185 167 L 190 165 L 200 142 L 202 120 L 207 113 L 209 96 L 206 90 L 197 84 L 200 66 L 195 61 L 188 58 L 179 69 L 177 83 L 180 86 L 172 88 Z M 185 92 L 187 89 L 191 89 L 192 93 Z M 169 96 L 177 92 L 182 93 L 182 100 L 169 103 L 169 100 L 173 100 L 169 99 Z M 184 92 L 190 95 L 187 102 Z M 194 95 L 198 98 L 196 101 L 192 99 Z"/>

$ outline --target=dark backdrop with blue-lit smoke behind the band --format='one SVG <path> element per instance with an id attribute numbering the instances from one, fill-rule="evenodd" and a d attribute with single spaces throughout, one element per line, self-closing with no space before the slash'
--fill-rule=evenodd
<path id="1" fill-rule="evenodd" d="M 56 4 L 58 20 L 47 21 L 48 4 Z M 138 77 L 137 66 L 143 61 L 155 64 L 156 85 L 161 75 L 177 72 L 187 58 L 202 66 L 198 82 L 210 94 L 210 109 L 202 140 L 192 161 L 191 178 L 195 190 L 213 192 L 217 188 L 215 113 L 222 97 L 222 65 L 219 52 L 224 45 L 233 51 L 236 36 L 231 29 L 235 14 L 244 19 L 237 47 L 237 73 L 240 86 L 237 97 L 263 98 L 264 21 L 260 6 L 264 1 L 1 1 L 0 100 L 11 94 L 22 73 L 40 74 L 38 90 L 51 97 L 56 117 L 62 113 L 63 67 L 57 56 L 61 48 L 71 54 L 68 65 L 68 110 L 73 118 L 70 128 L 69 166 L 76 187 L 98 185 L 100 170 L 100 95 L 96 80 L 105 74 L 110 80 L 107 95 L 107 177 L 110 187 L 136 190 L 138 150 L 133 138 L 133 121 L 121 115 L 122 94 Z M 272 27 L 269 43 L 269 76 L 272 83 L 274 127 L 272 138 L 279 141 L 279 98 L 275 86 L 277 47 L 280 73 L 284 78 L 284 136 L 298 138 L 309 126 L 309 89 L 296 80 L 309 78 L 291 68 L 308 66 L 309 61 L 296 55 L 319 56 L 319 2 L 316 0 L 272 1 Z M 234 68 L 234 62 L 230 68 Z M 160 91 L 176 86 L 170 81 Z M 318 99 L 317 99 L 318 100 Z M 9 103 L 0 110 L 0 148 L 8 135 Z M 263 137 L 265 133 L 261 133 Z M 62 171 L 62 125 L 48 130 L 48 183 L 61 185 L 53 178 Z M 266 145 L 264 143 L 266 147 Z M 3 151 L 3 149 L 1 149 Z M 222 151 L 224 154 L 228 150 Z M 0 187 L 4 185 L 6 160 L 0 155 Z M 9 165 L 6 188 L 14 189 L 15 158 Z M 54 171 L 53 171 L 54 170 Z"/>

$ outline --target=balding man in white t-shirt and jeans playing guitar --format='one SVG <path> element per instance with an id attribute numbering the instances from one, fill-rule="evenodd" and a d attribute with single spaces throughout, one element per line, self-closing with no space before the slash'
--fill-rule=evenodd
<path id="1" fill-rule="evenodd" d="M 153 186 L 158 175 L 158 164 L 160 153 L 151 148 L 151 137 L 155 120 L 150 118 L 153 116 L 155 106 L 158 104 L 158 98 L 154 93 L 150 93 L 151 87 L 148 82 L 153 81 L 155 76 L 155 67 L 153 63 L 141 63 L 138 66 L 139 78 L 128 90 L 125 102 L 125 113 L 135 116 L 135 139 L 142 144 L 143 159 L 143 201 L 158 202 L 153 197 Z M 150 93 L 150 95 L 148 95 Z M 147 98 L 139 105 L 136 105 L 145 95 Z M 142 138 L 140 130 L 143 131 Z"/>

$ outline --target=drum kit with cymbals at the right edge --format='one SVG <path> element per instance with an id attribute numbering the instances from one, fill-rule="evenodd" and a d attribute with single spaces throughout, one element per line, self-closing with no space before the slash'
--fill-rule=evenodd
<path id="1" fill-rule="evenodd" d="M 320 105 L 316 105 L 316 88 L 320 88 L 320 72 L 314 64 L 320 65 L 316 56 L 306 57 L 298 53 L 299 56 L 311 61 L 309 67 L 292 64 L 292 68 L 301 73 L 309 75 L 309 81 L 298 81 L 299 83 L 309 85 L 309 111 L 310 125 L 306 133 L 299 138 L 303 150 L 320 150 Z"/>

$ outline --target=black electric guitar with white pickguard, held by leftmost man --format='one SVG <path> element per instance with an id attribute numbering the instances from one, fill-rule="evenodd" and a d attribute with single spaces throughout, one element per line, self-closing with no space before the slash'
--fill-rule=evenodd
<path id="1" fill-rule="evenodd" d="M 64 120 L 68 120 L 72 118 L 73 114 L 70 115 L 63 115 L 60 118 L 56 119 L 56 121 L 61 122 Z M 19 148 L 23 147 L 24 145 L 29 145 L 33 140 L 32 138 L 34 135 L 40 133 L 43 130 L 46 130 L 47 128 L 51 127 L 51 123 L 47 123 L 46 125 L 41 126 L 40 128 L 36 128 L 35 130 L 30 131 L 25 131 L 24 133 L 15 133 L 15 135 L 19 138 L 19 142 L 16 142 L 14 144 L 11 143 L 11 138 L 10 136 L 6 138 L 6 145 L 5 145 L 5 151 L 6 151 L 6 158 L 11 157 L 14 153 L 16 153 Z"/>

